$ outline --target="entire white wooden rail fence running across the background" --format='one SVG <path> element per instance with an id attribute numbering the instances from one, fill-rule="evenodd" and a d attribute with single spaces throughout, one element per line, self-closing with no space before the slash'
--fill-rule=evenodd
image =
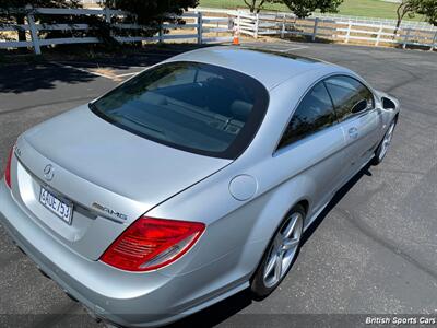
<path id="1" fill-rule="evenodd" d="M 24 25 L 0 25 L 0 32 L 25 31 L 28 38 L 19 40 L 0 40 L 0 48 L 33 47 L 35 54 L 40 54 L 40 47 L 59 44 L 86 44 L 99 43 L 97 37 L 62 37 L 62 38 L 42 38 L 40 34 L 47 31 L 88 31 L 92 26 L 87 24 L 39 24 L 35 21 L 35 15 L 97 15 L 104 17 L 107 23 L 111 23 L 115 17 L 126 16 L 129 13 L 109 9 L 33 9 L 27 13 L 27 24 Z M 120 43 L 132 42 L 158 42 L 184 39 L 203 43 L 231 42 L 231 33 L 235 25 L 241 35 L 251 37 L 259 36 L 307 36 L 312 40 L 326 38 L 342 43 L 362 43 L 374 46 L 401 45 L 437 48 L 437 28 L 410 27 L 401 25 L 394 34 L 393 24 L 385 22 L 365 23 L 358 21 L 344 21 L 334 17 L 311 16 L 305 20 L 297 19 L 291 13 L 261 13 L 251 14 L 244 11 L 214 10 L 188 11 L 181 16 L 185 24 L 165 23 L 160 32 L 151 37 L 120 36 L 111 32 L 111 36 Z M 113 23 L 111 26 L 120 30 L 138 30 L 135 24 Z M 169 32 L 169 33 L 165 33 Z"/>

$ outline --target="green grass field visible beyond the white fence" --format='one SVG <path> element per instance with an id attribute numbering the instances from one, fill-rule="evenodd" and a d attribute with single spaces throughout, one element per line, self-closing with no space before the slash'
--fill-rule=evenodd
<path id="1" fill-rule="evenodd" d="M 210 8 L 246 8 L 243 0 L 200 0 L 200 7 Z M 288 11 L 284 4 L 267 4 L 265 10 L 279 10 Z M 352 15 L 352 16 L 366 16 L 366 17 L 379 17 L 379 19 L 392 19 L 395 20 L 397 4 L 391 2 L 383 2 L 381 0 L 344 0 L 339 8 L 339 14 Z M 405 20 L 409 20 L 405 17 Z M 417 15 L 414 21 L 423 20 L 422 16 Z"/>

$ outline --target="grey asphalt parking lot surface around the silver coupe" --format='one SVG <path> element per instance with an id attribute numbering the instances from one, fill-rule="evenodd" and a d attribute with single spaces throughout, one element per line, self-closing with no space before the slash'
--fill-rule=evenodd
<path id="1" fill-rule="evenodd" d="M 398 97 L 402 112 L 385 162 L 339 192 L 272 295 L 253 302 L 243 292 L 178 325 L 239 326 L 253 317 L 265 326 L 292 324 L 293 317 L 277 321 L 277 314 L 437 316 L 437 54 L 291 42 L 244 46 L 345 66 Z M 0 167 L 29 127 L 182 50 L 0 68 Z M 0 227 L 0 326 L 16 317 L 27 327 L 102 325 L 83 314 Z"/>

